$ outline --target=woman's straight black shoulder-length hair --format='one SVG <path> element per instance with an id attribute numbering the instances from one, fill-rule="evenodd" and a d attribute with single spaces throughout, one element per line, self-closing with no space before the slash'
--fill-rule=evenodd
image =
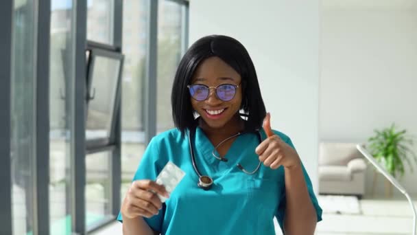
<path id="1" fill-rule="evenodd" d="M 184 133 L 187 128 L 193 129 L 198 125 L 194 118 L 187 85 L 190 85 L 198 65 L 212 56 L 221 58 L 241 76 L 243 91 L 241 109 L 248 116 L 246 131 L 261 128 L 266 111 L 252 59 L 239 41 L 223 35 L 200 38 L 182 57 L 171 93 L 172 117 L 176 128 Z"/>

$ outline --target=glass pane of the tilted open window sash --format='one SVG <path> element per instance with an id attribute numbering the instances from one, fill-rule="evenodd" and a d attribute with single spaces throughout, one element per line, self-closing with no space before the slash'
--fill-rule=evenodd
<path id="1" fill-rule="evenodd" d="M 108 138 L 112 128 L 113 111 L 119 78 L 120 60 L 95 56 L 88 102 L 87 139 Z"/>

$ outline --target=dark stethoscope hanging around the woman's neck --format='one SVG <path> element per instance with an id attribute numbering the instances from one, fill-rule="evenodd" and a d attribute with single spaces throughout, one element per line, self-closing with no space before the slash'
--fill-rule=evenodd
<path id="1" fill-rule="evenodd" d="M 195 132 L 195 129 L 193 131 Z M 200 187 L 200 188 L 202 188 L 204 190 L 208 190 L 213 185 L 213 179 L 211 177 L 209 177 L 208 175 L 202 175 L 200 173 L 200 171 L 198 170 L 197 165 L 195 164 L 194 148 L 193 148 L 193 144 L 191 144 L 191 135 L 190 135 L 190 132 L 191 131 L 188 131 L 187 132 L 188 142 L 189 142 L 189 146 L 190 146 L 191 161 L 193 162 L 193 168 L 195 170 L 195 173 L 197 173 L 197 175 L 198 175 L 198 187 Z M 256 132 L 258 133 L 259 143 L 261 143 L 262 142 L 261 132 L 259 131 L 259 129 L 257 129 Z M 218 146 L 222 145 L 224 142 L 228 141 L 229 139 L 231 139 L 233 137 L 237 137 L 237 136 L 242 135 L 244 133 L 247 133 L 247 132 L 245 131 L 245 132 L 236 133 L 235 135 L 232 135 L 232 136 L 224 139 L 219 144 L 217 144 L 217 146 L 215 146 L 215 148 L 213 149 L 213 152 L 212 152 L 213 157 L 215 157 L 216 159 L 219 159 L 220 161 L 228 161 L 228 159 L 226 159 L 224 157 L 223 158 L 222 157 L 217 157 L 215 155 L 216 148 Z M 253 175 L 255 172 L 257 172 L 259 170 L 259 167 L 261 166 L 261 161 L 259 161 L 259 164 L 258 164 L 257 168 L 255 168 L 253 171 L 245 170 L 245 168 L 243 168 L 243 166 L 241 164 L 239 164 L 239 163 L 236 166 L 237 166 L 237 168 L 239 168 L 241 171 L 245 172 L 246 174 Z"/>

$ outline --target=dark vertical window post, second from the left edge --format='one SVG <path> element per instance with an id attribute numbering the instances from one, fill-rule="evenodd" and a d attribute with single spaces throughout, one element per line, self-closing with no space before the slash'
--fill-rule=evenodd
<path id="1" fill-rule="evenodd" d="M 38 1 L 34 234 L 49 234 L 49 31 L 51 1 Z"/>

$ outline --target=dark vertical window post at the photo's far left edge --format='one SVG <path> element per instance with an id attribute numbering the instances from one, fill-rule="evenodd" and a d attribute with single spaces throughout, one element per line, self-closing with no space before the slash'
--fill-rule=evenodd
<path id="1" fill-rule="evenodd" d="M 10 161 L 10 85 L 12 73 L 13 1 L 0 1 L 0 234 L 12 234 L 12 175 Z"/>

